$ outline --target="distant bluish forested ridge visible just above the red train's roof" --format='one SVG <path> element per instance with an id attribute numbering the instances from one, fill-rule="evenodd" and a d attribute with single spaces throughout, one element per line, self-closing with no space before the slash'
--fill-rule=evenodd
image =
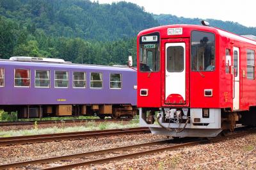
<path id="1" fill-rule="evenodd" d="M 184 17 L 177 17 L 175 15 L 154 15 L 154 18 L 158 20 L 160 25 L 170 24 L 196 24 L 200 25 L 202 19 L 189 19 Z M 225 29 L 237 35 L 256 35 L 256 27 L 246 27 L 237 22 L 224 22 L 222 20 L 207 19 L 212 27 L 219 27 Z"/>

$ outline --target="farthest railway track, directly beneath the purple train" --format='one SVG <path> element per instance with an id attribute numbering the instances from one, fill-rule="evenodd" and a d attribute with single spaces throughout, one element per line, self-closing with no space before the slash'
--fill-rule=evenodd
<path id="1" fill-rule="evenodd" d="M 88 121 L 95 121 L 95 122 L 102 122 L 102 121 L 131 121 L 130 118 L 122 118 L 122 119 L 86 119 L 86 120 L 44 120 L 44 121 L 36 121 L 36 124 L 50 124 L 50 123 L 80 123 L 80 122 L 88 122 Z M 35 121 L 1 121 L 0 127 L 5 126 L 19 126 L 19 125 L 35 125 Z"/>

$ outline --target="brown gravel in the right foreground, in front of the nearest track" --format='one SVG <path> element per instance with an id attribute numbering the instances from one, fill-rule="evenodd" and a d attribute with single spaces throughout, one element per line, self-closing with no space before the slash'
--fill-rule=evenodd
<path id="1" fill-rule="evenodd" d="M 76 169 L 256 169 L 256 134 Z"/>

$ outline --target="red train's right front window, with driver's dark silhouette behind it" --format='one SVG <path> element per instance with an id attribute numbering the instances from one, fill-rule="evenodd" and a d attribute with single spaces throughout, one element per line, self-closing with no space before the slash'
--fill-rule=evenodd
<path id="1" fill-rule="evenodd" d="M 191 33 L 191 70 L 215 70 L 215 36 L 213 33 L 192 31 Z"/>

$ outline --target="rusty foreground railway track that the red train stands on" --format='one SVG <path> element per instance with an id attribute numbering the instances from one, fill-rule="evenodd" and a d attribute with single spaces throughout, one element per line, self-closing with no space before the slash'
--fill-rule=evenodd
<path id="1" fill-rule="evenodd" d="M 152 153 L 158 153 L 166 150 L 175 150 L 177 148 L 182 148 L 184 146 L 194 146 L 196 144 L 201 144 L 201 143 L 218 142 L 225 139 L 241 137 L 251 132 L 255 132 L 255 129 L 246 131 L 246 132 L 237 132 L 236 134 L 227 135 L 224 137 L 216 137 L 213 139 L 199 140 L 199 139 L 183 138 L 182 143 L 173 143 L 172 139 L 168 139 L 168 140 L 156 141 L 152 143 L 134 144 L 131 146 L 123 146 L 119 148 L 111 148 L 111 149 L 91 151 L 86 153 L 77 153 L 74 155 L 64 155 L 61 157 L 43 158 L 43 159 L 29 160 L 24 162 L 17 162 L 13 164 L 6 164 L 6 165 L 1 165 L 0 169 L 7 169 L 10 167 L 22 167 L 22 166 L 24 167 L 28 165 L 33 169 L 35 168 L 36 169 L 71 169 L 73 167 L 90 166 L 92 164 L 102 164 L 102 163 L 111 162 L 115 160 L 124 160 L 126 158 L 134 158 L 134 157 L 139 157 L 141 155 L 150 155 Z M 168 144 L 168 145 L 163 146 L 163 144 Z M 132 153 L 125 153 L 125 151 L 130 152 L 131 150 L 134 150 L 136 148 L 140 148 L 140 150 L 134 151 Z M 118 153 L 118 155 L 109 156 L 111 155 L 111 153 L 113 153 L 112 155 L 116 155 Z M 79 159 L 78 162 L 76 160 L 77 158 Z M 66 165 L 56 166 L 56 164 L 54 164 L 55 166 L 52 166 L 51 164 L 44 164 L 44 166 L 42 166 L 43 163 L 58 162 L 61 160 L 65 160 Z M 36 166 L 36 165 L 39 165 L 39 166 Z"/>

